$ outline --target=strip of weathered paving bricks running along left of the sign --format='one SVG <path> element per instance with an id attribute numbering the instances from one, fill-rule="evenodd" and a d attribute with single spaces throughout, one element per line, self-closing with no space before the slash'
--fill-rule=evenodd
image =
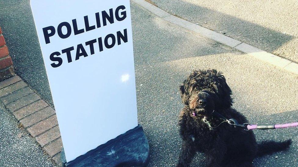
<path id="1" fill-rule="evenodd" d="M 60 166 L 62 141 L 55 110 L 19 76 L 0 82 L 0 101 Z"/>

